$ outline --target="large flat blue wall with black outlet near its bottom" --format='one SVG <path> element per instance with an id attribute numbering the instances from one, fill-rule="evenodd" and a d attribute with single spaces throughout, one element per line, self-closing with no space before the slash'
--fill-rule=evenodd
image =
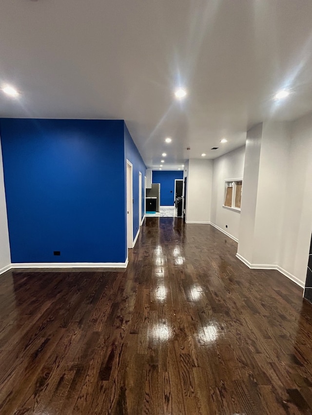
<path id="1" fill-rule="evenodd" d="M 124 121 L 1 119 L 0 135 L 12 262 L 124 262 Z"/>

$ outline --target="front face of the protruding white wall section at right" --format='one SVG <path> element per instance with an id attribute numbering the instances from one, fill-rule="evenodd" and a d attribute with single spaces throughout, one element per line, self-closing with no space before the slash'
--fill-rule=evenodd
<path id="1" fill-rule="evenodd" d="M 286 177 L 290 156 L 291 123 L 263 123 L 257 204 L 254 223 L 253 264 L 277 265 Z M 287 225 L 286 225 L 287 226 Z"/>

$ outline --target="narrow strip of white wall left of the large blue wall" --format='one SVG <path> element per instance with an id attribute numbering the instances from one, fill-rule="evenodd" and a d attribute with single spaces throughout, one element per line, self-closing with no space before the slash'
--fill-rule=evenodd
<path id="1" fill-rule="evenodd" d="M 0 143 L 0 272 L 6 271 L 11 264 L 8 221 L 3 180 L 2 152 Z"/>

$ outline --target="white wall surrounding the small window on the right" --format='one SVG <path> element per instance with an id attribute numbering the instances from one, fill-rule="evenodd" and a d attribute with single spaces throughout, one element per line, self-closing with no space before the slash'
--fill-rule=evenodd
<path id="1" fill-rule="evenodd" d="M 242 179 L 244 161 L 245 146 L 218 157 L 213 162 L 211 222 L 235 240 L 238 239 L 240 212 L 234 212 L 223 207 L 225 180 Z M 226 228 L 225 225 L 228 225 L 228 227 Z"/>

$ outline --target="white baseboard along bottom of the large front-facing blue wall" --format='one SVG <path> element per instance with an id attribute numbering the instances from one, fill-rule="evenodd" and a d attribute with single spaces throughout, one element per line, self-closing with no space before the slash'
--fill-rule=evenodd
<path id="1" fill-rule="evenodd" d="M 127 268 L 128 257 L 125 262 L 20 262 L 13 263 L 10 269 L 19 268 Z"/>

